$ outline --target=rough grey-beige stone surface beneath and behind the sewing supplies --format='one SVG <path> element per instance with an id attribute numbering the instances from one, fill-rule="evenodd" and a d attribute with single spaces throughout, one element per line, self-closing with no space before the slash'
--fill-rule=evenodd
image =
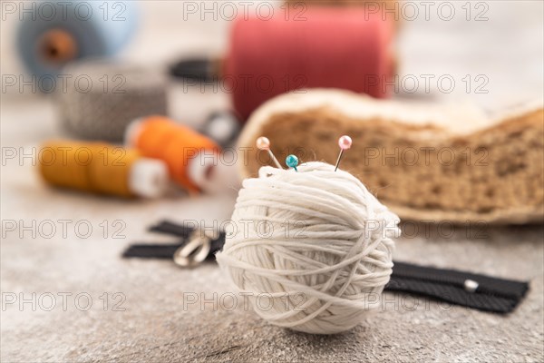
<path id="1" fill-rule="evenodd" d="M 150 62 L 160 63 L 172 57 L 173 49 L 182 54 L 224 48 L 224 22 L 183 23 L 175 16 L 179 3 L 141 4 L 147 6 L 149 18 L 139 43 L 131 46 L 127 56 L 146 59 L 153 50 L 156 57 Z M 487 74 L 490 93 L 458 90 L 418 96 L 468 98 L 491 113 L 520 100 L 541 99 L 542 3 L 486 4 L 490 9 L 487 22 L 458 17 L 453 22 L 407 22 L 399 45 L 402 74 L 453 74 L 456 79 L 463 74 Z M 12 53 L 5 52 L 10 47 L 11 25 L 2 24 L 3 73 L 16 72 L 16 62 L 6 55 Z M 170 36 L 172 31 L 190 36 Z M 227 104 L 224 94 L 180 93 L 175 87 L 171 94 L 175 101 L 172 114 L 189 123 L 197 122 L 210 108 Z M 6 148 L 20 153 L 23 149 L 19 148 L 24 147 L 30 152 L 41 140 L 63 135 L 57 128 L 54 104 L 46 97 L 2 93 L 0 112 L 3 155 Z M 88 221 L 93 233 L 78 238 L 71 227 L 63 237 L 57 224 L 53 238 L 33 238 L 29 231 L 5 231 L 3 225 L 3 300 L 11 293 L 22 293 L 26 299 L 33 293 L 36 299 L 52 293 L 56 307 L 45 311 L 38 306 L 34 311 L 29 303 L 3 306 L 2 361 L 544 360 L 542 226 L 460 228 L 452 236 L 444 236 L 448 229 L 440 233 L 434 227 L 418 226 L 417 236 L 397 243 L 396 260 L 529 280 L 527 299 L 509 316 L 449 309 L 425 299 L 388 294 L 387 299 L 396 305 L 389 303 L 353 331 L 332 337 L 278 329 L 241 306 L 232 312 L 214 309 L 211 304 L 184 310 L 184 293 L 203 293 L 210 299 L 214 293 L 220 296 L 232 290 L 215 263 L 180 270 L 170 261 L 120 259 L 130 242 L 159 240 L 145 233 L 149 224 L 163 218 L 223 221 L 229 217 L 234 198 L 171 197 L 144 202 L 95 198 L 46 188 L 29 159 L 3 161 L 3 221 L 14 220 L 19 225 Z M 107 238 L 102 236 L 102 221 L 110 225 Z M 126 226 L 121 238 L 113 238 L 114 221 Z M 413 235 L 413 225 L 409 227 Z M 88 311 L 74 305 L 74 296 L 83 292 L 92 298 Z M 115 301 L 120 301 L 112 299 L 116 292 L 125 297 L 124 311 L 113 311 Z M 59 293 L 73 294 L 65 311 Z M 105 311 L 104 293 L 109 294 Z M 44 298 L 42 302 L 48 305 L 48 301 Z M 403 309 L 413 304 L 418 304 L 416 309 Z"/>

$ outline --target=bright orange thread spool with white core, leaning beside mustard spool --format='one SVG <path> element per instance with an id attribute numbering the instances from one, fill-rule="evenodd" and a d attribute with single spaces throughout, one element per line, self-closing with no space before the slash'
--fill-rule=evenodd
<path id="1" fill-rule="evenodd" d="M 165 162 L 171 179 L 188 191 L 213 189 L 220 148 L 199 132 L 164 116 L 150 116 L 131 123 L 125 141 L 142 155 Z"/>

